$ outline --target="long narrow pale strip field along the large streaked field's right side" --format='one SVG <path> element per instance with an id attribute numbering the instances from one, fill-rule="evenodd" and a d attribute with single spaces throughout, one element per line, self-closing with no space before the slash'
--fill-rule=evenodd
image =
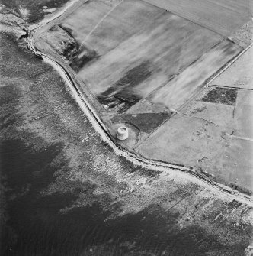
<path id="1" fill-rule="evenodd" d="M 166 105 L 168 108 L 178 109 L 187 99 L 191 98 L 194 91 L 213 74 L 226 64 L 241 47 L 231 41 L 223 41 L 212 50 L 203 54 L 193 65 L 181 72 L 178 76 L 154 92 L 149 99 L 153 103 Z"/>

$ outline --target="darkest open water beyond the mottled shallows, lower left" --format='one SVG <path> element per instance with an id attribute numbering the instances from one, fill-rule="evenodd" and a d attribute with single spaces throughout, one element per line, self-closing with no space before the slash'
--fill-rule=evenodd
<path id="1" fill-rule="evenodd" d="M 203 235 L 200 228 L 180 231 L 178 213 L 168 214 L 160 206 L 107 221 L 113 212 L 104 212 L 99 203 L 60 212 L 78 190 L 40 193 L 54 180 L 56 168 L 50 165 L 59 151 L 60 145 L 48 145 L 34 153 L 22 141 L 2 141 L 8 213 L 2 255 L 203 255 L 207 250 L 195 246 Z"/>

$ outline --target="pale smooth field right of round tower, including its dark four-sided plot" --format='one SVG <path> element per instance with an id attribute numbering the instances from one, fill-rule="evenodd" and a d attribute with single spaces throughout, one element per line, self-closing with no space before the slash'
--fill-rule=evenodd
<path id="1" fill-rule="evenodd" d="M 180 112 L 139 145 L 139 152 L 200 167 L 252 190 L 253 92 L 210 86 Z"/>

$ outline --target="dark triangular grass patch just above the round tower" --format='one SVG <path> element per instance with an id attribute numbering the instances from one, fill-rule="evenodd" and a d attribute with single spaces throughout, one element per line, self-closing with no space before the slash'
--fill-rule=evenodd
<path id="1" fill-rule="evenodd" d="M 114 118 L 113 122 L 129 122 L 136 126 L 139 131 L 150 133 L 159 127 L 166 119 L 171 117 L 171 113 L 141 113 L 141 114 L 124 114 Z"/>

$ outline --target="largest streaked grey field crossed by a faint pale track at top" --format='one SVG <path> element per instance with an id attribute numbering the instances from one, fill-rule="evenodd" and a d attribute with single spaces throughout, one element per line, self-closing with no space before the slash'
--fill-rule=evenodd
<path id="1" fill-rule="evenodd" d="M 62 21 L 62 27 L 99 56 L 80 66 L 78 75 L 102 104 L 117 111 L 168 83 L 223 39 L 145 2 L 124 1 L 107 15 L 111 8 L 88 2 Z"/>

